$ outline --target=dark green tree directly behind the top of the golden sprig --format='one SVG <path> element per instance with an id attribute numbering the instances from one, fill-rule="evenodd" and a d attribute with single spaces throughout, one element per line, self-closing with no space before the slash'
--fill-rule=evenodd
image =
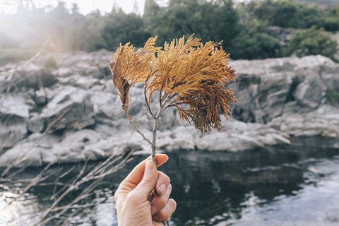
<path id="1" fill-rule="evenodd" d="M 239 17 L 230 0 L 171 0 L 167 8 L 153 13 L 157 7 L 153 0 L 146 1 L 144 17 L 145 27 L 158 36 L 158 42 L 195 33 L 203 42 L 224 40 L 222 45 L 228 49 L 239 33 Z"/>

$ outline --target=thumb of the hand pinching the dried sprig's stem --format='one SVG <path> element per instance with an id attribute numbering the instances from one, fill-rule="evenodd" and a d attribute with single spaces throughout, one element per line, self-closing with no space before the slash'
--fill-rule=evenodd
<path id="1" fill-rule="evenodd" d="M 134 191 L 138 192 L 138 194 L 143 198 L 147 198 L 150 192 L 155 188 L 157 176 L 157 167 L 155 167 L 155 163 L 152 160 L 147 160 L 143 179 L 138 184 L 138 186 L 136 186 Z"/>

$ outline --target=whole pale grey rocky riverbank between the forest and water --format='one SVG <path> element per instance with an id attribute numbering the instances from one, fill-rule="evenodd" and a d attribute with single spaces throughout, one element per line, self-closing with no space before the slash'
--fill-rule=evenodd
<path id="1" fill-rule="evenodd" d="M 149 151 L 121 109 L 108 68 L 113 53 L 64 53 L 0 68 L 0 166 L 39 166 Z M 51 63 L 52 62 L 52 63 Z M 51 66 L 52 65 L 52 66 Z M 322 56 L 232 61 L 238 102 L 221 133 L 201 136 L 176 109 L 160 119 L 157 148 L 229 150 L 289 144 L 291 136 L 339 137 L 339 65 Z M 6 71 L 16 67 L 15 70 Z M 129 112 L 150 137 L 143 88 L 131 89 Z M 153 105 L 152 107 L 157 107 Z M 339 148 L 338 143 L 333 144 Z M 21 158 L 23 157 L 23 158 Z M 18 160 L 20 159 L 20 161 Z"/>

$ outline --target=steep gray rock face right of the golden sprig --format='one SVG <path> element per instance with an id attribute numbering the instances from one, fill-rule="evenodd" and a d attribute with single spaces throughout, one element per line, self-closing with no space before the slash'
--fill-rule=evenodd
<path id="1" fill-rule="evenodd" d="M 238 102 L 233 115 L 241 121 L 268 123 L 291 104 L 311 112 L 325 100 L 326 90 L 339 90 L 339 67 L 323 56 L 233 61 L 237 82 L 230 84 Z"/>

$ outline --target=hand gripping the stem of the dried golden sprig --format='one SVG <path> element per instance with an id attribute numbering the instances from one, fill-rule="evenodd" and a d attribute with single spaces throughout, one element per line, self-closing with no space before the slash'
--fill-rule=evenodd
<path id="1" fill-rule="evenodd" d="M 157 155 L 157 166 L 167 162 L 167 155 Z M 139 163 L 119 185 L 114 195 L 119 226 L 162 226 L 169 221 L 177 203 L 169 198 L 169 177 L 157 171 L 150 157 Z M 156 189 L 154 196 L 150 193 Z"/>

